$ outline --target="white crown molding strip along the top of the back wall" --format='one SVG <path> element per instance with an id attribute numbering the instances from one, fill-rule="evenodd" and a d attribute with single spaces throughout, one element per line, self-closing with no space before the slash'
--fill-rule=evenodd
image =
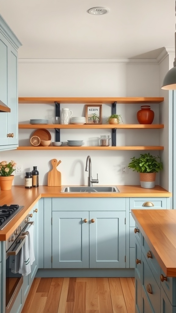
<path id="1" fill-rule="evenodd" d="M 158 64 L 157 59 L 33 59 L 19 58 L 19 64 L 128 64 L 128 65 L 145 65 Z"/>

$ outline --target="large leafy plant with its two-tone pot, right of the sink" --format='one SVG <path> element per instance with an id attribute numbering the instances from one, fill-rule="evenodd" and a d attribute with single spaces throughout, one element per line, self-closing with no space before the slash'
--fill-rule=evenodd
<path id="1" fill-rule="evenodd" d="M 163 169 L 163 163 L 160 162 L 160 157 L 145 153 L 140 154 L 139 158 L 133 156 L 131 160 L 128 167 L 140 173 L 141 187 L 154 188 L 156 173 Z"/>

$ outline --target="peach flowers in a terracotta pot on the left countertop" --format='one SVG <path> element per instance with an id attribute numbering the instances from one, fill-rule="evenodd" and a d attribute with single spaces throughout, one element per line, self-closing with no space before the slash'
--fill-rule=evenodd
<path id="1" fill-rule="evenodd" d="M 12 187 L 12 182 L 14 175 L 12 173 L 15 171 L 16 163 L 14 161 L 0 162 L 0 188 L 1 190 L 10 190 Z"/>

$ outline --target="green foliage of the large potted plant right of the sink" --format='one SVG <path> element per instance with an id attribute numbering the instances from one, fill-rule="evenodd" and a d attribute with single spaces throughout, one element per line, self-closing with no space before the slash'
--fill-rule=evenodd
<path id="1" fill-rule="evenodd" d="M 158 173 L 163 169 L 163 163 L 159 162 L 160 157 L 153 156 L 150 153 L 140 154 L 139 158 L 133 156 L 131 160 L 128 167 L 140 173 Z"/>

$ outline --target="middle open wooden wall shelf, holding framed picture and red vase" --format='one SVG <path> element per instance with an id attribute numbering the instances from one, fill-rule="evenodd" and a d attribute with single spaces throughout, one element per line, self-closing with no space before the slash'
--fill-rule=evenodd
<path id="1" fill-rule="evenodd" d="M 18 124 L 19 129 L 160 129 L 164 128 L 163 124 L 84 124 L 84 125 L 61 125 L 61 124 Z"/>

